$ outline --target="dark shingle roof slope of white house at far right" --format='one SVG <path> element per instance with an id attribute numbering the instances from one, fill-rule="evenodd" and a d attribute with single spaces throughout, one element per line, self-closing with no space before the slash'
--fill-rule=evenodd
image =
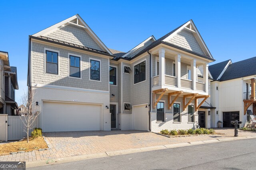
<path id="1" fill-rule="evenodd" d="M 238 61 L 228 66 L 220 81 L 256 75 L 256 57 Z"/>

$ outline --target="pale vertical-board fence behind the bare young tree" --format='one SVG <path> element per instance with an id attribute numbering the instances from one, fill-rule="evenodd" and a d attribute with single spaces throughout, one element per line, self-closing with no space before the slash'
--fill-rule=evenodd
<path id="1" fill-rule="evenodd" d="M 8 116 L 8 141 L 20 140 L 26 136 L 26 132 L 24 132 L 24 124 L 20 117 L 23 116 Z M 22 119 L 24 119 L 24 117 Z M 34 127 L 36 127 L 36 125 L 38 125 L 38 118 L 34 123 Z M 32 130 L 30 130 L 29 133 L 31 133 Z"/>

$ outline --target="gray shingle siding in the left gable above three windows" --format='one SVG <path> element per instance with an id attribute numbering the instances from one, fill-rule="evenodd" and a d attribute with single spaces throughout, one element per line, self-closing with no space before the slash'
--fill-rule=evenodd
<path id="1" fill-rule="evenodd" d="M 63 27 L 45 36 L 102 51 L 100 46 L 83 28 L 75 25 L 67 25 L 66 27 Z"/>

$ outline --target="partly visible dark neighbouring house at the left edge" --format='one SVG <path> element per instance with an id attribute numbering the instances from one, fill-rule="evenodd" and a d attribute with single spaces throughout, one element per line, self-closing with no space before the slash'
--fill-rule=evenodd
<path id="1" fill-rule="evenodd" d="M 1 62 L 1 94 L 0 114 L 18 115 L 18 104 L 15 102 L 15 90 L 19 89 L 17 68 L 10 66 L 8 52 L 0 51 Z"/>

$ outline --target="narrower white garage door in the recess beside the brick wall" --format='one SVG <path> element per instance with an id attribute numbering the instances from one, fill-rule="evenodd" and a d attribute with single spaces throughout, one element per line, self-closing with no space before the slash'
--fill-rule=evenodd
<path id="1" fill-rule="evenodd" d="M 143 106 L 132 107 L 132 114 L 134 114 L 134 129 L 147 131 L 148 130 L 148 108 Z"/>

